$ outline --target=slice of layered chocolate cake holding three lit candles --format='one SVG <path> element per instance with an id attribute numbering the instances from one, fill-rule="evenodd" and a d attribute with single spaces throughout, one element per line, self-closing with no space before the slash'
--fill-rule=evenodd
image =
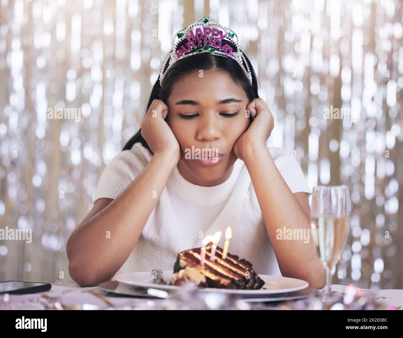
<path id="1" fill-rule="evenodd" d="M 200 265 L 201 249 L 189 249 L 178 254 L 172 275 L 173 285 L 182 285 L 189 280 L 209 288 L 256 290 L 264 285 L 264 281 L 253 271 L 251 263 L 230 253 L 222 259 L 220 247 L 217 247 L 215 259 L 211 261 L 212 242 L 206 245 L 204 265 Z"/>

